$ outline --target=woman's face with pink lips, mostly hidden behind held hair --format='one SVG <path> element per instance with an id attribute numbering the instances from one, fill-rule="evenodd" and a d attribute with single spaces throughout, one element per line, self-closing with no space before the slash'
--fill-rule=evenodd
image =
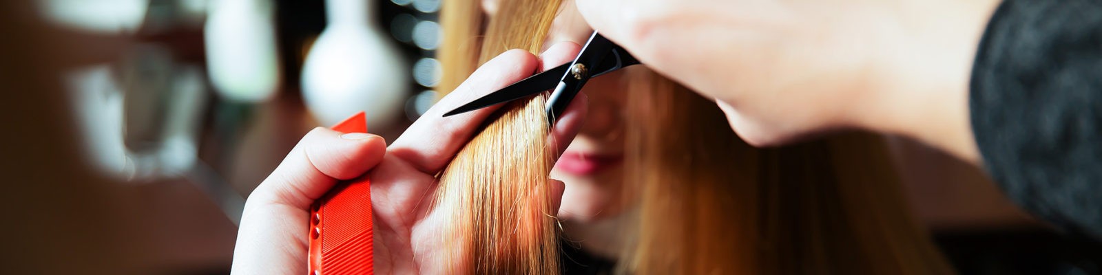
<path id="1" fill-rule="evenodd" d="M 490 16 L 497 10 L 497 1 L 500 0 L 483 0 L 484 11 Z M 574 1 L 564 0 L 543 48 L 564 41 L 584 44 L 592 32 Z M 585 222 L 620 212 L 626 96 L 622 75 L 617 72 L 590 79 L 581 91 L 590 98 L 588 116 L 577 138 L 551 170 L 551 178 L 566 184 L 560 219 Z"/>

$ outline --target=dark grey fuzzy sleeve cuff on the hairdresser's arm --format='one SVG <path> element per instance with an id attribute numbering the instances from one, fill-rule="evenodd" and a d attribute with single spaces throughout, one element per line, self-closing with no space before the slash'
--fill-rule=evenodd
<path id="1" fill-rule="evenodd" d="M 1006 0 L 972 72 L 972 130 L 1011 199 L 1102 240 L 1102 0 Z"/>

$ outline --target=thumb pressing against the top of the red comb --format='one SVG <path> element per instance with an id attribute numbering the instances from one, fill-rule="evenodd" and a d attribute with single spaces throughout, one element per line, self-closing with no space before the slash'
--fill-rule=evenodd
<path id="1" fill-rule="evenodd" d="M 353 179 L 379 164 L 386 147 L 382 136 L 315 128 L 257 186 L 249 199 L 306 209 L 337 180 Z"/>

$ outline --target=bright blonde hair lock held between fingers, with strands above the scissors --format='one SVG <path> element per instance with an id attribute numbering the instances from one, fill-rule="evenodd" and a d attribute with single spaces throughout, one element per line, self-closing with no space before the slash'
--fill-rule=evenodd
<path id="1" fill-rule="evenodd" d="M 510 48 L 539 51 L 554 19 L 558 1 L 509 1 L 501 16 L 490 20 L 486 38 L 472 46 L 479 24 L 472 21 L 480 9 L 477 1 L 444 3 L 442 21 L 449 25 L 441 59 L 449 72 L 441 87 L 451 90 L 478 63 Z M 473 14 L 473 15 L 472 15 Z M 479 20 L 474 20 L 480 22 Z M 536 26 L 523 30 L 515 25 Z M 463 33 L 463 35 L 455 35 Z M 454 43 L 454 44 L 447 44 Z M 545 142 L 550 132 L 543 112 L 547 95 L 510 102 L 487 120 L 488 124 L 455 156 L 440 175 L 436 206 L 460 209 L 442 238 L 451 251 L 466 251 L 450 257 L 454 274 L 553 274 L 559 273 L 559 232 L 552 213 L 551 157 Z M 460 237 L 460 238 L 450 238 Z M 454 248 L 458 248 L 455 250 Z"/>

